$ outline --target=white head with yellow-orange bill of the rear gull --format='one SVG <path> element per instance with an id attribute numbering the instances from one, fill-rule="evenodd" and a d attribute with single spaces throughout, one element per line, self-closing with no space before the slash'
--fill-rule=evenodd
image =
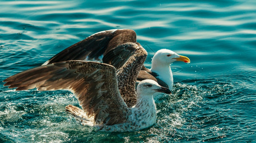
<path id="1" fill-rule="evenodd" d="M 174 51 L 168 49 L 161 49 L 155 53 L 152 58 L 152 66 L 153 64 L 162 64 L 162 65 L 170 65 L 174 61 L 184 61 L 190 62 L 190 60 L 185 57 L 178 55 Z"/>

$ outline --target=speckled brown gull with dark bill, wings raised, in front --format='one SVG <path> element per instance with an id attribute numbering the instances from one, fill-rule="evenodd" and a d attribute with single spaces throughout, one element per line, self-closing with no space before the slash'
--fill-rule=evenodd
<path id="1" fill-rule="evenodd" d="M 132 49 L 132 45 L 134 43 L 121 46 Z M 82 124 L 106 132 L 139 131 L 156 123 L 153 94 L 171 93 L 153 80 L 141 81 L 135 91 L 146 57 L 147 51 L 138 47 L 118 70 L 110 64 L 94 61 L 60 61 L 17 73 L 3 82 L 16 91 L 69 90 L 78 98 L 82 109 L 68 105 L 65 111 Z M 120 88 L 117 81 L 122 83 Z M 126 92 L 126 96 L 122 97 L 121 92 Z M 129 100 L 136 104 L 129 107 Z"/>

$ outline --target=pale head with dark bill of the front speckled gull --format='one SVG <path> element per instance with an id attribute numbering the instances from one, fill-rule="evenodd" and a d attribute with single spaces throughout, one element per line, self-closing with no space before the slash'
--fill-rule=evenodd
<path id="1" fill-rule="evenodd" d="M 156 92 L 171 93 L 168 88 L 160 86 L 153 80 L 143 80 L 137 86 L 137 93 L 140 95 L 153 95 Z"/>

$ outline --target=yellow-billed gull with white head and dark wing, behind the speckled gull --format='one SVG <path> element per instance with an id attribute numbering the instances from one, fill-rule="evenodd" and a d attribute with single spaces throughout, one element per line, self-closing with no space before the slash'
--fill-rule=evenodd
<path id="1" fill-rule="evenodd" d="M 101 61 L 114 65 L 116 69 L 119 69 L 132 54 L 130 52 L 133 52 L 121 49 L 120 45 L 134 43 L 142 47 L 137 42 L 136 36 L 136 32 L 130 29 L 100 31 L 59 52 L 43 65 L 59 61 L 82 60 Z M 189 58 L 178 55 L 174 51 L 168 49 L 157 51 L 152 58 L 151 69 L 143 65 L 137 81 L 151 79 L 158 82 L 161 86 L 172 90 L 174 80 L 170 64 L 174 61 L 190 63 Z"/>

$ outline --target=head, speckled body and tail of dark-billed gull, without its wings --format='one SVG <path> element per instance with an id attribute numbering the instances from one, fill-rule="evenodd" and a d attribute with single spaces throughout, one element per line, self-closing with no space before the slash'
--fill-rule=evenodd
<path id="1" fill-rule="evenodd" d="M 74 116 L 78 121 L 81 122 L 82 125 L 94 126 L 99 131 L 139 131 L 148 128 L 154 123 L 156 123 L 156 105 L 153 100 L 153 94 L 156 92 L 171 93 L 171 91 L 168 88 L 160 86 L 157 82 L 153 80 L 143 80 L 138 84 L 137 87 L 136 105 L 131 108 L 128 108 L 127 106 L 123 105 L 125 107 L 124 109 L 122 109 L 122 111 L 119 111 L 121 109 L 119 107 L 113 108 L 112 110 L 115 111 L 108 113 L 108 117 L 105 118 L 108 121 L 104 121 L 105 123 L 96 123 L 97 121 L 95 122 L 95 117 L 97 117 L 97 115 L 95 115 L 93 118 L 90 118 L 84 112 L 84 110 L 81 110 L 80 108 L 73 105 L 68 105 L 66 107 L 66 112 Z M 122 101 L 121 103 L 123 104 L 124 102 Z M 99 117 L 97 117 L 97 119 L 102 121 L 102 119 L 100 119 Z M 116 123 L 109 122 L 111 120 L 115 120 Z M 121 120 L 122 122 L 119 122 L 119 120 Z"/>

